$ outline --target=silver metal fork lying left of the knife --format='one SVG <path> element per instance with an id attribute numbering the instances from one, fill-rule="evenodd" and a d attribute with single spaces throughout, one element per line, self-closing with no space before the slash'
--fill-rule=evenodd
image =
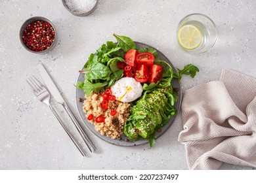
<path id="1" fill-rule="evenodd" d="M 60 116 L 58 116 L 58 113 L 54 110 L 53 106 L 51 105 L 51 103 L 50 103 L 51 95 L 48 92 L 48 90 L 45 88 L 45 86 L 43 86 L 43 84 L 41 84 L 41 82 L 39 80 L 37 80 L 37 78 L 35 78 L 35 76 L 33 76 L 33 77 L 31 76 L 26 81 L 32 88 L 33 93 L 35 93 L 35 96 L 37 97 L 37 99 L 39 101 L 41 101 L 42 103 L 47 104 L 51 108 L 51 110 L 53 111 L 53 114 L 56 116 L 58 122 L 60 122 L 60 125 L 62 125 L 62 127 L 65 129 L 66 133 L 68 133 L 68 136 L 74 142 L 75 146 L 77 146 L 78 150 L 81 152 L 81 154 L 83 156 L 86 156 L 85 150 L 83 150 L 83 147 L 79 144 L 79 142 L 77 142 L 77 140 L 72 135 L 72 133 L 70 132 L 70 130 L 68 129 L 66 124 L 64 124 L 64 122 L 62 121 Z"/>

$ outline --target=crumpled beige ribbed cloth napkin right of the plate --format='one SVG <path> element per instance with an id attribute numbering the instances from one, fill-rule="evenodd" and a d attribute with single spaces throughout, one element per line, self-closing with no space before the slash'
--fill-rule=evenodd
<path id="1" fill-rule="evenodd" d="M 255 79 L 224 69 L 219 81 L 186 90 L 181 109 L 189 169 L 256 167 Z"/>

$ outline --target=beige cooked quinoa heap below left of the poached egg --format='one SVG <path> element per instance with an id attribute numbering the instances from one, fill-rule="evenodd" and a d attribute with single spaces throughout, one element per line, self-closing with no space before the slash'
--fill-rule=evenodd
<path id="1" fill-rule="evenodd" d="M 106 135 L 111 139 L 119 139 L 123 134 L 123 127 L 127 121 L 130 113 L 131 105 L 129 103 L 123 103 L 121 101 L 108 101 L 108 109 L 101 108 L 101 102 L 103 92 L 93 92 L 91 95 L 85 95 L 85 101 L 83 102 L 83 112 L 88 117 L 89 114 L 93 114 L 93 119 L 88 120 L 91 124 L 95 125 L 95 130 L 100 132 L 100 135 Z M 116 110 L 117 113 L 114 116 L 110 115 L 111 110 Z M 104 116 L 104 123 L 96 123 L 95 118 L 97 116 Z"/>

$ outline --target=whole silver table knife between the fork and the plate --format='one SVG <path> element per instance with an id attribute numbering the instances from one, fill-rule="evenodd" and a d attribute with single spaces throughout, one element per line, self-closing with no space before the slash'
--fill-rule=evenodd
<path id="1" fill-rule="evenodd" d="M 86 135 L 85 131 L 83 131 L 83 128 L 81 127 L 79 122 L 77 122 L 75 116 L 72 114 L 70 108 L 68 107 L 64 98 L 62 97 L 62 95 L 58 91 L 58 88 L 54 84 L 51 76 L 49 75 L 49 73 L 47 73 L 45 67 L 43 67 L 43 64 L 39 63 L 37 65 L 37 69 L 38 69 L 41 77 L 43 78 L 43 81 L 45 82 L 45 85 L 47 86 L 49 92 L 53 95 L 53 98 L 55 99 L 55 101 L 60 103 L 65 108 L 66 112 L 68 113 L 68 116 L 70 116 L 73 124 L 75 125 L 75 127 L 77 129 L 77 131 L 79 131 L 79 134 L 81 135 L 83 141 L 85 141 L 85 144 L 87 145 L 89 150 L 91 152 L 94 152 L 96 150 L 96 148 L 93 145 L 93 142 L 91 142 L 89 137 Z"/>

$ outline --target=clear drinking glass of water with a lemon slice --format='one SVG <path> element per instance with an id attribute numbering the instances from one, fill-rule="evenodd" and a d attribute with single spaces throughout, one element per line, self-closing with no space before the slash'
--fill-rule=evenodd
<path id="1" fill-rule="evenodd" d="M 207 52 L 217 41 L 217 27 L 204 14 L 189 14 L 182 18 L 177 30 L 179 45 L 191 54 Z"/>

